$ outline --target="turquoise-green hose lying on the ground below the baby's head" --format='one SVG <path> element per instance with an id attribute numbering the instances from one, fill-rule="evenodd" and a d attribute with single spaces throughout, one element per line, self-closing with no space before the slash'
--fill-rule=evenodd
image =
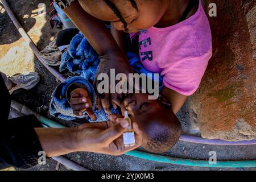
<path id="1" fill-rule="evenodd" d="M 59 127 L 63 128 L 65 126 L 60 125 L 43 117 L 42 115 L 36 115 L 39 121 L 48 127 Z M 133 150 L 130 152 L 126 152 L 126 155 L 134 156 L 136 158 L 151 160 L 159 163 L 168 163 L 168 164 L 177 164 L 183 166 L 193 166 L 193 167 L 214 167 L 214 168 L 247 168 L 247 167 L 256 167 L 256 160 L 237 160 L 237 161 L 218 161 L 217 164 L 209 164 L 208 160 L 191 160 L 191 159 L 181 159 L 181 158 L 172 158 L 170 156 L 163 156 L 157 154 L 150 154 L 146 152 L 141 152 L 137 150 Z"/>

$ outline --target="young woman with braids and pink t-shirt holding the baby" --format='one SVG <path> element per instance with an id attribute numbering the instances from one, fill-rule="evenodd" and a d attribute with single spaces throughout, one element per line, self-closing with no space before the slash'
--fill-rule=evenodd
<path id="1" fill-rule="evenodd" d="M 101 56 L 98 72 L 129 73 L 122 31 L 138 38 L 145 68 L 164 76 L 165 96 L 174 113 L 199 87 L 212 56 L 210 26 L 200 0 L 55 0 Z M 103 21 L 112 23 L 110 32 Z M 109 110 L 115 94 L 101 104 Z"/>

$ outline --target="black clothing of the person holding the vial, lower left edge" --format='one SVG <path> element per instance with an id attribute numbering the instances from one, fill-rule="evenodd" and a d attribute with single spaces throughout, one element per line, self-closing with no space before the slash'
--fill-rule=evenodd
<path id="1" fill-rule="evenodd" d="M 42 147 L 34 128 L 42 127 L 41 123 L 34 115 L 8 119 L 11 97 L 2 76 L 0 97 L 0 169 L 35 166 Z"/>

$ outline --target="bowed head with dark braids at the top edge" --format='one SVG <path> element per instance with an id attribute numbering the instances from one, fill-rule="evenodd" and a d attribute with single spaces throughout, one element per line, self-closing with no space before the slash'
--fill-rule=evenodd
<path id="1" fill-rule="evenodd" d="M 79 0 L 94 17 L 113 22 L 115 29 L 138 32 L 155 26 L 166 13 L 169 0 Z"/>

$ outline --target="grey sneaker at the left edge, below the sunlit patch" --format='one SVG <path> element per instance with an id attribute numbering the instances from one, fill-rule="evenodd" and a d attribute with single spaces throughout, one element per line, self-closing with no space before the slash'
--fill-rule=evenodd
<path id="1" fill-rule="evenodd" d="M 9 79 L 16 84 L 11 90 L 9 90 L 10 94 L 12 94 L 18 89 L 32 89 L 40 81 L 40 76 L 36 72 L 29 72 L 26 74 L 18 73 L 9 77 Z"/>

